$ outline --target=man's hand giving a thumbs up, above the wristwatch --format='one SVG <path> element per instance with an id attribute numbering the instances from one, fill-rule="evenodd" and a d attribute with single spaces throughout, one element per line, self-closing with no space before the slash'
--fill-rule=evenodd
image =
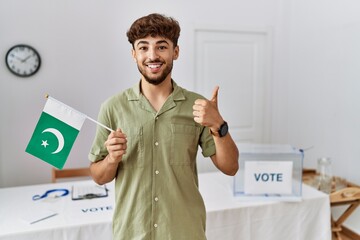
<path id="1" fill-rule="evenodd" d="M 219 86 L 216 86 L 210 100 L 197 99 L 193 106 L 194 121 L 217 132 L 224 119 L 218 109 Z"/>

